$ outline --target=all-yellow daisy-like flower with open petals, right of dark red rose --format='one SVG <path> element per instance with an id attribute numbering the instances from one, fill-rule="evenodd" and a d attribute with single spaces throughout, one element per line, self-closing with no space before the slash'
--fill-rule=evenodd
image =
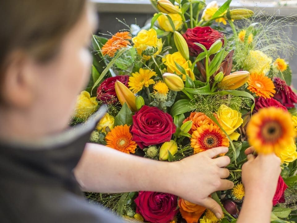
<path id="1" fill-rule="evenodd" d="M 132 73 L 132 77 L 129 77 L 129 89 L 136 94 L 142 90 L 143 86 L 149 87 L 149 85 L 155 83 L 155 81 L 151 79 L 153 76 L 157 76 L 156 72 L 140 68 L 139 72 Z"/>

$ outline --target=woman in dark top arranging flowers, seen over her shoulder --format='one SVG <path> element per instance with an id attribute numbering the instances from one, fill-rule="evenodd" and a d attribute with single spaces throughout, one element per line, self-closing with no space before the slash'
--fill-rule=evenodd
<path id="1" fill-rule="evenodd" d="M 76 96 L 88 82 L 88 43 L 95 26 L 85 0 L 0 2 L 1 221 L 122 222 L 89 205 L 79 186 L 94 192 L 171 193 L 220 218 L 221 207 L 208 195 L 233 187 L 224 179 L 230 159 L 213 159 L 228 148 L 157 162 L 86 144 L 96 117 L 68 129 Z M 245 181 L 250 187 L 268 184 L 255 179 L 247 175 Z M 275 191 L 276 181 L 269 186 Z"/>

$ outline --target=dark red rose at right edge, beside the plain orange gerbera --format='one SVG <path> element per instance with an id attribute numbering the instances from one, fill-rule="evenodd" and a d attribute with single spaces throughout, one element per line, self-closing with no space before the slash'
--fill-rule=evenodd
<path id="1" fill-rule="evenodd" d="M 274 78 L 273 83 L 276 90 L 273 98 L 287 108 L 295 107 L 294 103 L 297 103 L 297 95 L 292 91 L 291 87 L 278 77 Z"/>

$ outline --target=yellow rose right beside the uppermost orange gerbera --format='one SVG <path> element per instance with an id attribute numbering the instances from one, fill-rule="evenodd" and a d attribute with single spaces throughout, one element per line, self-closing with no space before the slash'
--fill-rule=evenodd
<path id="1" fill-rule="evenodd" d="M 157 48 L 157 52 L 155 52 L 154 55 L 160 54 L 163 45 L 162 39 L 158 39 L 157 32 L 154 29 L 140 30 L 137 36 L 132 38 L 132 42 L 134 43 L 134 48 L 136 48 L 139 55 L 141 55 L 142 52 L 149 47 Z M 151 57 L 143 55 L 143 58 L 149 60 Z"/>

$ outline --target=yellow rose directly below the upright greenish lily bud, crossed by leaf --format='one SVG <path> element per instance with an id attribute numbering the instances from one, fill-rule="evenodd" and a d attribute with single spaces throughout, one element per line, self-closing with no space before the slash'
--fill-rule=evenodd
<path id="1" fill-rule="evenodd" d="M 191 77 L 192 80 L 195 79 L 194 73 L 191 70 L 192 63 L 190 60 L 186 60 L 183 58 L 183 56 L 180 54 L 180 52 L 175 52 L 173 54 L 167 54 L 165 58 L 162 58 L 163 63 L 167 66 L 167 72 L 174 73 L 176 72 L 177 75 L 183 75 L 183 81 L 186 80 L 186 75 L 184 75 L 182 72 L 179 71 L 179 69 L 176 67 L 175 62 L 182 66 L 186 74 Z"/>

